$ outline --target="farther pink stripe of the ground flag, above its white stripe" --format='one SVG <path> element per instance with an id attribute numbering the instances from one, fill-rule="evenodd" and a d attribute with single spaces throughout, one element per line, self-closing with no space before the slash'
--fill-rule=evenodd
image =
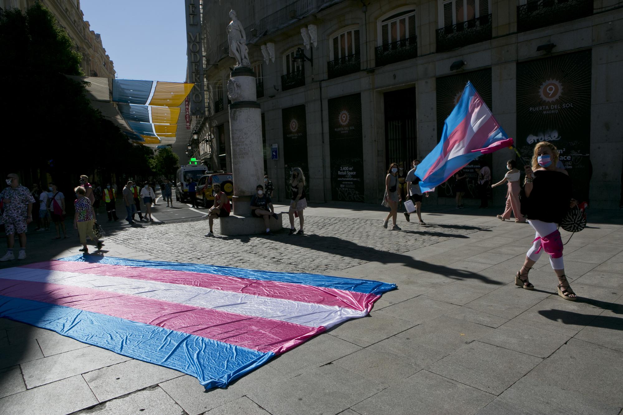
<path id="1" fill-rule="evenodd" d="M 136 280 L 192 285 L 206 289 L 239 292 L 262 297 L 281 298 L 305 303 L 351 308 L 358 311 L 372 309 L 380 295 L 338 290 L 291 282 L 262 281 L 202 272 L 174 271 L 168 269 L 145 269 L 128 265 L 91 264 L 52 260 L 22 265 L 21 268 L 47 269 L 53 271 L 79 272 L 80 274 L 110 275 Z"/>

